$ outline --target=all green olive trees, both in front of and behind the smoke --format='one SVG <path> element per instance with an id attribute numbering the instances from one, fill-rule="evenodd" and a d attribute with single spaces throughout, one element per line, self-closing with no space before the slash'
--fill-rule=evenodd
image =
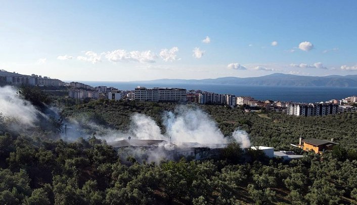
<path id="1" fill-rule="evenodd" d="M 39 93 L 41 95 L 41 92 Z M 25 96 L 25 95 L 24 95 Z M 61 101 L 62 100 L 62 101 Z M 175 104 L 93 100 L 76 104 L 58 98 L 62 115 L 125 130 L 133 113 L 152 117 Z M 188 105 L 196 106 L 196 105 Z M 0 204 L 356 204 L 356 114 L 293 117 L 222 106 L 199 106 L 226 135 L 238 127 L 254 145 L 290 149 L 300 134 L 334 138 L 334 150 L 291 162 L 266 159 L 259 150 L 229 144 L 220 159 L 139 164 L 89 136 L 56 140 L 58 127 L 12 132 L 0 115 Z M 47 130 L 46 130 L 47 129 Z M 251 161 L 245 162 L 248 156 Z M 243 163 L 245 162 L 245 163 Z"/>

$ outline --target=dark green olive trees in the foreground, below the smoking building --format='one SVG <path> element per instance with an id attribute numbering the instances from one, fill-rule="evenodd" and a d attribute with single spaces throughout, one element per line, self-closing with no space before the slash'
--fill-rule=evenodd
<path id="1" fill-rule="evenodd" d="M 232 145 L 226 155 L 241 159 L 239 150 Z M 259 157 L 248 164 L 234 160 L 138 164 L 121 162 L 111 146 L 94 137 L 67 143 L 5 134 L 0 136 L 0 203 L 354 203 L 357 161 L 341 161 L 341 151 L 336 152 L 308 153 L 290 163 Z"/>

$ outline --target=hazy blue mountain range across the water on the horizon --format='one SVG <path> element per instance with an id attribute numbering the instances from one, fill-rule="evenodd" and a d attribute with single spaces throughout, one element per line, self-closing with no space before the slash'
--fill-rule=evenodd
<path id="1" fill-rule="evenodd" d="M 202 80 L 159 79 L 135 81 L 152 84 L 226 84 L 226 85 L 270 85 L 270 86 L 322 86 L 322 87 L 357 87 L 357 75 L 300 76 L 274 73 L 261 77 L 223 77 Z"/>

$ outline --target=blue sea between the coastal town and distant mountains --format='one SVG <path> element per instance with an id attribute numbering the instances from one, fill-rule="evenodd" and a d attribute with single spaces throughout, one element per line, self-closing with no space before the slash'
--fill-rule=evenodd
<path id="1" fill-rule="evenodd" d="M 295 103 L 318 103 L 330 99 L 342 99 L 357 95 L 357 87 L 306 87 L 306 86 L 263 86 L 263 85 L 224 85 L 224 84 L 160 84 L 138 82 L 101 82 L 81 81 L 91 86 L 116 87 L 120 90 L 134 90 L 137 86 L 179 87 L 187 90 L 202 90 L 220 94 L 234 94 L 236 96 L 251 96 L 259 100 L 292 101 Z"/>

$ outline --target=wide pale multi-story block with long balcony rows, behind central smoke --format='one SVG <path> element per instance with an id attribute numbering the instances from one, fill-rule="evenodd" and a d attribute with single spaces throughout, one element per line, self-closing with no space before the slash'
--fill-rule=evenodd
<path id="1" fill-rule="evenodd" d="M 138 86 L 135 88 L 135 100 L 139 101 L 186 101 L 186 89 L 154 87 L 148 89 Z"/>

